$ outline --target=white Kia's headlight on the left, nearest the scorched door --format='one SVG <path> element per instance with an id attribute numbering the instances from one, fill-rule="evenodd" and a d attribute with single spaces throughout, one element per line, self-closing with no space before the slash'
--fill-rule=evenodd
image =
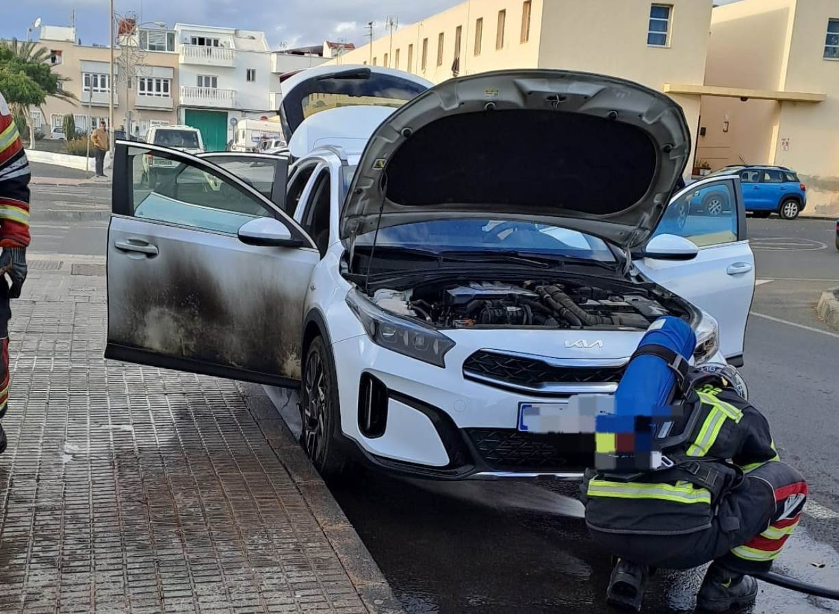
<path id="1" fill-rule="evenodd" d="M 379 309 L 357 289 L 347 293 L 347 305 L 377 346 L 436 367 L 446 367 L 446 352 L 455 342 L 440 331 Z"/>

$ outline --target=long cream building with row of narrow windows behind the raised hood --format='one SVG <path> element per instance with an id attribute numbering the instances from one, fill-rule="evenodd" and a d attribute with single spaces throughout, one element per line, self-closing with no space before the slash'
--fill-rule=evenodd
<path id="1" fill-rule="evenodd" d="M 408 70 L 439 83 L 508 68 L 560 68 L 665 87 L 699 122 L 711 0 L 468 0 L 358 49 L 336 64 Z M 688 169 L 690 172 L 690 169 Z"/>

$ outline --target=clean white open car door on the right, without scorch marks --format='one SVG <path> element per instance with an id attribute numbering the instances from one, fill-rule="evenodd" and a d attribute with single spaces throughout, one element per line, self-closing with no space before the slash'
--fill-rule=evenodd
<path id="1" fill-rule="evenodd" d="M 657 284 L 690 300 L 717 319 L 720 350 L 743 364 L 743 337 L 754 294 L 754 255 L 748 247 L 746 210 L 737 177 L 697 181 L 675 195 L 654 235 L 690 239 L 696 258 L 636 264 Z"/>

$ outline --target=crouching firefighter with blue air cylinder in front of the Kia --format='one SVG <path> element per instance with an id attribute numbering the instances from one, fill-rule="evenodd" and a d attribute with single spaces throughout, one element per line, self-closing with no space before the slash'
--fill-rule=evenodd
<path id="1" fill-rule="evenodd" d="M 597 419 L 582 485 L 591 538 L 617 565 L 607 601 L 639 611 L 651 570 L 708 562 L 706 611 L 747 606 L 793 533 L 807 485 L 779 460 L 769 424 L 730 366 L 688 366 L 690 326 L 656 320 L 629 363 L 615 413 Z"/>

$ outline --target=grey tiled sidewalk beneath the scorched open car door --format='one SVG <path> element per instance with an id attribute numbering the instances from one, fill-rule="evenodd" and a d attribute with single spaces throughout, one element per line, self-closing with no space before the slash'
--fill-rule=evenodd
<path id="1" fill-rule="evenodd" d="M 58 262 L 13 303 L 0 612 L 397 611 L 261 389 L 104 361 L 102 265 Z"/>

